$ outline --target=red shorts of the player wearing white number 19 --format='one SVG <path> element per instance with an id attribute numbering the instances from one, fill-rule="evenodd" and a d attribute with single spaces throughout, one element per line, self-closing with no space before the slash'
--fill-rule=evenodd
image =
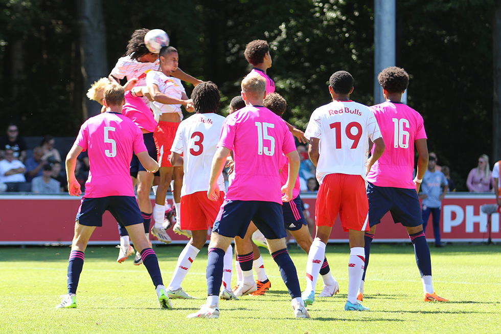
<path id="1" fill-rule="evenodd" d="M 328 174 L 318 189 L 315 224 L 334 225 L 337 214 L 343 231 L 369 231 L 369 201 L 360 175 Z"/>

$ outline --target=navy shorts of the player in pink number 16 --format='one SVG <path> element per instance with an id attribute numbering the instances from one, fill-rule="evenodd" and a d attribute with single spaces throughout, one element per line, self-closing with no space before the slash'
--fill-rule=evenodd
<path id="1" fill-rule="evenodd" d="M 406 227 L 423 224 L 421 206 L 415 189 L 378 187 L 369 182 L 369 225 L 373 227 L 390 211 L 395 224 L 400 222 Z"/>

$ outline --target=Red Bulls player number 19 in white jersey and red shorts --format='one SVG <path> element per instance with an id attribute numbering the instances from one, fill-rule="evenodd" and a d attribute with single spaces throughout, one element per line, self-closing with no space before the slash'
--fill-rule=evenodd
<path id="1" fill-rule="evenodd" d="M 316 166 L 320 183 L 315 204 L 316 235 L 306 263 L 306 305 L 313 303 L 318 273 L 325 259 L 325 247 L 339 214 L 348 232 L 348 300 L 345 310 L 368 310 L 357 300 L 365 253 L 363 234 L 369 230 L 365 176 L 384 151 L 384 142 L 371 110 L 350 100 L 353 77 L 338 71 L 329 79 L 332 102 L 314 110 L 306 127 L 308 154 Z M 374 149 L 369 160 L 369 142 Z"/>

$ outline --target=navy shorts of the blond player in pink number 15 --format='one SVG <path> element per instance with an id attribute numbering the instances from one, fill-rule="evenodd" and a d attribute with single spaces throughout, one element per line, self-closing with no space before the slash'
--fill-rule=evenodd
<path id="1" fill-rule="evenodd" d="M 282 206 L 264 201 L 224 201 L 219 209 L 213 232 L 234 238 L 245 237 L 250 220 L 264 234 L 266 239 L 285 238 Z"/>

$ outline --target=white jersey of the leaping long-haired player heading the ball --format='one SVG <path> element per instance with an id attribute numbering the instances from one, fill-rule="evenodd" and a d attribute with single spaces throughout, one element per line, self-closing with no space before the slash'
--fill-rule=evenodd
<path id="1" fill-rule="evenodd" d="M 125 77 L 127 80 L 136 78 L 139 80 L 136 86 L 146 86 L 146 74 L 149 71 L 158 70 L 158 66 L 160 66 L 158 59 L 155 62 L 139 62 L 130 56 L 125 56 L 117 61 L 110 74 L 119 80 Z M 142 100 L 147 106 L 150 106 L 150 101 L 146 97 L 143 96 Z"/>

